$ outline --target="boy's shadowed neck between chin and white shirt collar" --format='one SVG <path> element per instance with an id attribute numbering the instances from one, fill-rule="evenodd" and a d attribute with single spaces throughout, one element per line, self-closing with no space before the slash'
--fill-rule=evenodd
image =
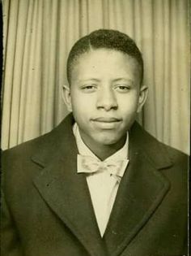
<path id="1" fill-rule="evenodd" d="M 112 145 L 100 145 L 95 141 L 89 141 L 82 134 L 83 142 L 87 145 L 87 147 L 94 153 L 100 160 L 104 161 L 104 159 L 108 158 L 112 154 L 115 154 L 118 150 L 120 150 L 123 145 L 125 145 L 126 135 L 121 138 L 120 141 Z"/>

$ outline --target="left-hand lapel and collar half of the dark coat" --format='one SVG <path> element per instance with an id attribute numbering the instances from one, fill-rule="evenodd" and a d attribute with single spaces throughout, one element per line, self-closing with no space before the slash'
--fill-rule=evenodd
<path id="1" fill-rule="evenodd" d="M 104 256 L 106 255 L 104 242 L 96 223 L 87 181 L 83 174 L 76 172 L 77 148 L 70 119 L 68 118 L 62 127 L 62 138 L 60 137 L 57 143 L 54 140 L 49 147 L 46 145 L 47 150 L 49 148 L 50 151 L 51 148 L 52 154 L 40 149 L 41 154 L 33 156 L 33 161 L 44 167 L 40 175 L 34 179 L 34 184 L 41 196 L 66 223 L 74 236 L 78 237 L 87 251 L 91 255 Z M 60 130 L 61 128 L 58 129 L 55 138 L 59 137 Z M 54 149 L 54 145 L 57 145 L 57 149 Z M 52 160 L 49 160 L 50 158 Z"/>

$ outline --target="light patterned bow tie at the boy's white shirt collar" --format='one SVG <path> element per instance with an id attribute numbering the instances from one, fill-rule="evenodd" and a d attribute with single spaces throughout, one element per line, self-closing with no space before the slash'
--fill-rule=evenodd
<path id="1" fill-rule="evenodd" d="M 78 154 L 78 173 L 85 172 L 91 174 L 94 172 L 108 171 L 111 176 L 122 177 L 128 163 L 128 159 L 100 161 L 91 156 Z"/>

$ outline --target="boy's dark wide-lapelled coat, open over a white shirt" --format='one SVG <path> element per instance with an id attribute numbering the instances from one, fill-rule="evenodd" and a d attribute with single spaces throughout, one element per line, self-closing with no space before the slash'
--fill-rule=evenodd
<path id="1" fill-rule="evenodd" d="M 2 256 L 187 254 L 187 157 L 137 123 L 129 166 L 100 237 L 69 115 L 2 158 Z"/>

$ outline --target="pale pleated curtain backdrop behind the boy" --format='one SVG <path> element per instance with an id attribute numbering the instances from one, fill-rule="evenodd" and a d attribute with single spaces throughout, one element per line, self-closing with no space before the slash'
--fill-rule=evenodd
<path id="1" fill-rule="evenodd" d="M 138 120 L 159 141 L 189 152 L 188 1 L 2 0 L 2 7 L 2 149 L 64 118 L 71 46 L 95 29 L 114 28 L 142 50 L 150 93 Z"/>

